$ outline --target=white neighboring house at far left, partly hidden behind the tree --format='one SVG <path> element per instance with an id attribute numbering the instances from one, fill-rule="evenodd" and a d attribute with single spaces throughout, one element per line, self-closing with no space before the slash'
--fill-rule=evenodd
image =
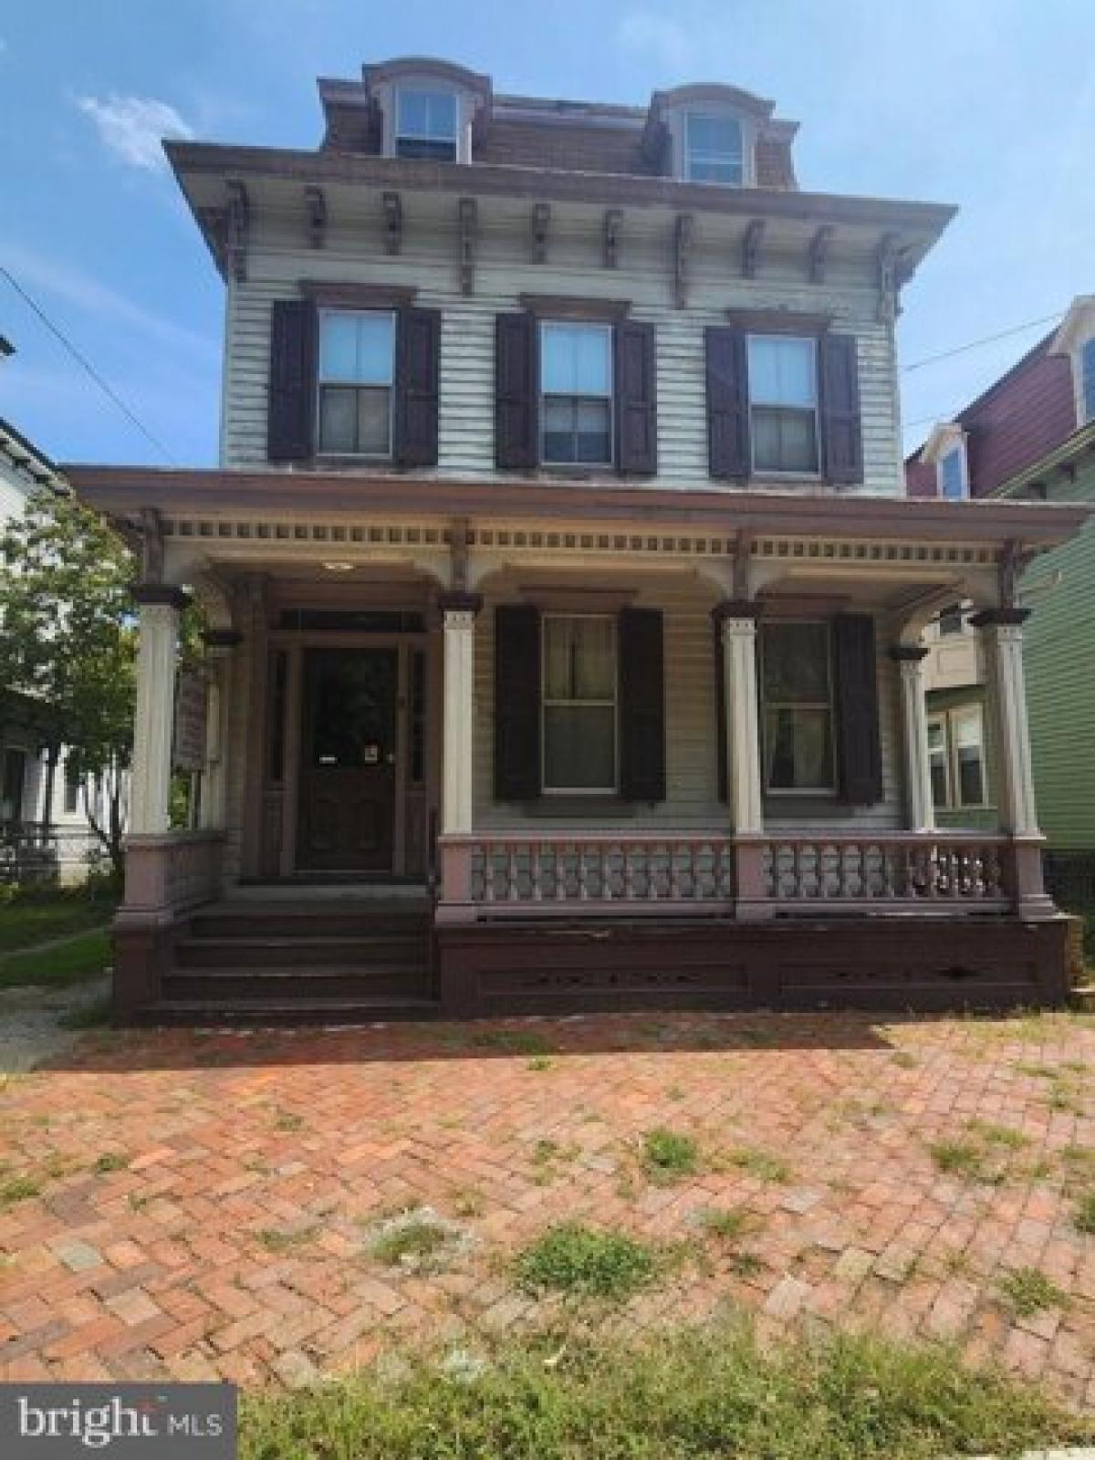
<path id="1" fill-rule="evenodd" d="M 0 531 L 35 488 L 64 486 L 53 461 L 0 419 Z M 42 873 L 80 880 L 95 835 L 83 788 L 61 752 L 47 807 L 48 766 L 35 729 L 34 701 L 0 686 L 0 880 Z"/>

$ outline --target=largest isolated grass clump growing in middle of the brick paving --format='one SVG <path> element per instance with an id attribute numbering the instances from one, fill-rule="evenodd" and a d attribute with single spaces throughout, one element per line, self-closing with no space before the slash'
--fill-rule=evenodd
<path id="1" fill-rule="evenodd" d="M 562 1222 L 518 1256 L 517 1280 L 526 1292 L 575 1294 L 626 1302 L 657 1275 L 654 1251 L 623 1232 Z"/>

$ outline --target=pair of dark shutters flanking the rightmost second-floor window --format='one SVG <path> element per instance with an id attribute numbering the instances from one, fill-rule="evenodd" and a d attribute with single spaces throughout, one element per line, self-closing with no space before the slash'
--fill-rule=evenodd
<path id="1" fill-rule="evenodd" d="M 752 476 L 749 439 L 749 350 L 745 330 L 705 331 L 708 472 Z M 822 474 L 840 485 L 863 480 L 858 350 L 853 334 L 818 339 L 818 415 Z"/>

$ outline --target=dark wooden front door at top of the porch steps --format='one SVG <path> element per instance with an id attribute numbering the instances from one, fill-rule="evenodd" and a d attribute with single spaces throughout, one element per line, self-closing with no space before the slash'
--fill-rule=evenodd
<path id="1" fill-rule="evenodd" d="M 391 872 L 397 695 L 394 648 L 305 653 L 298 869 Z"/>

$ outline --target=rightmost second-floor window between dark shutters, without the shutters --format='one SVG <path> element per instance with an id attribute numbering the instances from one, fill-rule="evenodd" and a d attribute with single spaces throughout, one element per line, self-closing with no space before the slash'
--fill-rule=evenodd
<path id="1" fill-rule="evenodd" d="M 756 472 L 818 472 L 818 342 L 749 336 L 749 418 Z"/>

